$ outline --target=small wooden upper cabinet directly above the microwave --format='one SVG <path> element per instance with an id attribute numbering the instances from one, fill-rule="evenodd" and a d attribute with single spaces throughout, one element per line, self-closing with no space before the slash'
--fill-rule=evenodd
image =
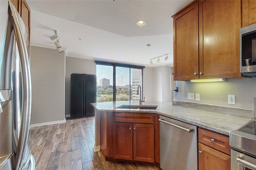
<path id="1" fill-rule="evenodd" d="M 242 0 L 242 27 L 256 23 L 256 0 Z"/>

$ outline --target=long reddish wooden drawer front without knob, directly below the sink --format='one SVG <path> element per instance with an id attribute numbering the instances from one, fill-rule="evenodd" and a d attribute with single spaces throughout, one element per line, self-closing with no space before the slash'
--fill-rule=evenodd
<path id="1" fill-rule="evenodd" d="M 154 124 L 154 114 L 147 113 L 113 113 L 113 121 L 131 123 L 152 123 Z"/>

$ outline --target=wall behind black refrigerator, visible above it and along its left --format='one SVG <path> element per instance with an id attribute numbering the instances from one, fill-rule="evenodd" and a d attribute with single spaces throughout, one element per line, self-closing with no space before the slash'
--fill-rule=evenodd
<path id="1" fill-rule="evenodd" d="M 65 114 L 70 114 L 70 76 L 77 74 L 96 74 L 96 63 L 94 60 L 66 57 L 66 93 L 65 93 Z"/>

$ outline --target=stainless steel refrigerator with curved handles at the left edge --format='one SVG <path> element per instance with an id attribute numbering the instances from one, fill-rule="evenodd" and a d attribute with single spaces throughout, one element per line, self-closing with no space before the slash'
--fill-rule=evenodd
<path id="1" fill-rule="evenodd" d="M 0 170 L 34 170 L 28 31 L 12 3 L 0 3 Z"/>

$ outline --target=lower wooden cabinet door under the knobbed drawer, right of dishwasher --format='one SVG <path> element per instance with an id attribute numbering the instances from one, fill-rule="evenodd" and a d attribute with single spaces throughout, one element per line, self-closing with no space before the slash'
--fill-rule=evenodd
<path id="1" fill-rule="evenodd" d="M 230 170 L 230 156 L 198 143 L 198 170 Z"/>

